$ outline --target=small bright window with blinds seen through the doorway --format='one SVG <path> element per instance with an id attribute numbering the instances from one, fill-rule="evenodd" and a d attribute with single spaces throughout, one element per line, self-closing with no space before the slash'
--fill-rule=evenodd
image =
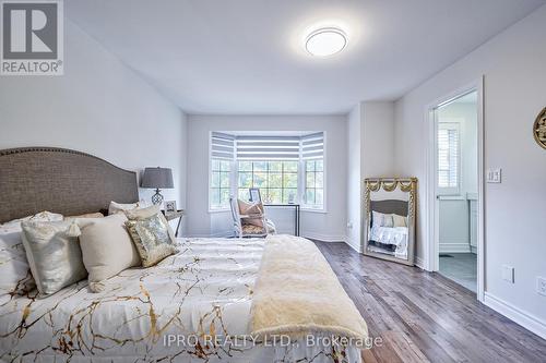
<path id="1" fill-rule="evenodd" d="M 438 191 L 460 192 L 460 128 L 459 123 L 438 124 Z"/>

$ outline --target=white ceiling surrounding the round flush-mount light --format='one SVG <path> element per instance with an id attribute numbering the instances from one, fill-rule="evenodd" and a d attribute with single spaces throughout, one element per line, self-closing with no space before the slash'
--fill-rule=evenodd
<path id="1" fill-rule="evenodd" d="M 70 0 L 67 16 L 188 113 L 345 113 L 394 100 L 546 0 Z M 337 56 L 305 36 L 337 25 Z"/>

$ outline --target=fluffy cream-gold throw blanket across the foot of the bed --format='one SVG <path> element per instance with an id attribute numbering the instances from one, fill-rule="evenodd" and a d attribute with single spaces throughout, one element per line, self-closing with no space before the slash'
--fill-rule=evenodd
<path id="1" fill-rule="evenodd" d="M 265 240 L 250 324 L 260 337 L 368 337 L 366 322 L 314 243 L 292 235 Z"/>

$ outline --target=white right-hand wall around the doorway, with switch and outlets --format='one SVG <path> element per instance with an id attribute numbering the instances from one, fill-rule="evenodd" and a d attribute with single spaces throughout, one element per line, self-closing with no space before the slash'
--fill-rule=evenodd
<path id="1" fill-rule="evenodd" d="M 501 167 L 502 183 L 486 184 L 486 302 L 546 336 L 546 297 L 535 292 L 546 277 L 546 152 L 532 126 L 546 106 L 546 5 L 471 52 L 396 101 L 397 170 L 418 177 L 425 197 L 425 107 L 484 75 L 485 166 Z M 418 208 L 417 253 L 423 257 L 425 205 Z M 501 279 L 503 264 L 515 283 Z M 526 323 L 525 323 L 526 322 Z"/>

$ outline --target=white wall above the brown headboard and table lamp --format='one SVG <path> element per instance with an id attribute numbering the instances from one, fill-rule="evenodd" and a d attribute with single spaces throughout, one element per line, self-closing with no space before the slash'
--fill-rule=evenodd
<path id="1" fill-rule="evenodd" d="M 0 148 L 57 146 L 135 171 L 169 167 L 176 187 L 164 196 L 183 207 L 183 112 L 69 20 L 64 34 L 64 75 L 0 77 Z"/>

